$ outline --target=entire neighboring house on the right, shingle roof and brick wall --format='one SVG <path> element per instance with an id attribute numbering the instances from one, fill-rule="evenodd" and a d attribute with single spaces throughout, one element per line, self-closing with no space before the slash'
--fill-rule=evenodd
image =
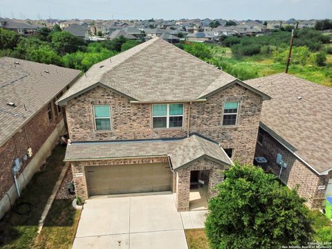
<path id="1" fill-rule="evenodd" d="M 246 83 L 272 98 L 261 111 L 256 155 L 288 187 L 298 186 L 309 208 L 322 208 L 332 196 L 332 89 L 285 73 Z"/>

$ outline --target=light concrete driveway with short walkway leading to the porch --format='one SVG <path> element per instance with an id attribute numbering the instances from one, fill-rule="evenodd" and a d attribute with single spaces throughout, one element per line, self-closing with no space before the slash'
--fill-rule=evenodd
<path id="1" fill-rule="evenodd" d="M 187 249 L 184 228 L 201 228 L 205 211 L 176 212 L 172 194 L 89 199 L 73 248 Z"/>

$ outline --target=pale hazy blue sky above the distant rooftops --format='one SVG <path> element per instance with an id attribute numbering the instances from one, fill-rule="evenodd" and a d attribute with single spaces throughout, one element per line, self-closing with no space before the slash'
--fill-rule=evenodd
<path id="1" fill-rule="evenodd" d="M 17 19 L 332 19 L 332 0 L 0 0 Z"/>

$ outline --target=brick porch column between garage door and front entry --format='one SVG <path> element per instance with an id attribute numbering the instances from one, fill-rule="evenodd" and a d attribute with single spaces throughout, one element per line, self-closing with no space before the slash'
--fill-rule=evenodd
<path id="1" fill-rule="evenodd" d="M 176 172 L 176 205 L 178 212 L 189 210 L 190 170 Z"/>

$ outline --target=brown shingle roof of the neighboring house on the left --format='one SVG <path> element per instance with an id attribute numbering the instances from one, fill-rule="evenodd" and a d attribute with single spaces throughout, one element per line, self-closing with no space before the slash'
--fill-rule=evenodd
<path id="1" fill-rule="evenodd" d="M 0 58 L 0 146 L 79 74 L 70 68 Z"/>

